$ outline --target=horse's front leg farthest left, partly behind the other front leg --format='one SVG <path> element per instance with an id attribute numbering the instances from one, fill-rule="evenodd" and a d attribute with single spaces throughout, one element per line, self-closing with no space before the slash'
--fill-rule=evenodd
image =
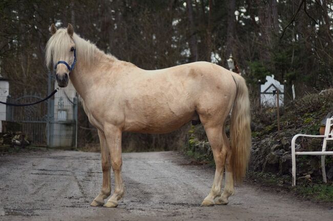
<path id="1" fill-rule="evenodd" d="M 110 175 L 110 151 L 107 145 L 105 134 L 98 130 L 99 142 L 100 142 L 100 151 L 102 155 L 102 171 L 103 171 L 103 182 L 102 189 L 100 190 L 97 197 L 90 204 L 91 206 L 102 206 L 104 200 L 109 197 L 111 194 L 111 175 Z"/>

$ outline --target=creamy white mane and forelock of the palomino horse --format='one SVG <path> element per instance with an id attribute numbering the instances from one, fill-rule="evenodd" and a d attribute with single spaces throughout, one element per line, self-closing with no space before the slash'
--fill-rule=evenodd
<path id="1" fill-rule="evenodd" d="M 95 44 L 89 40 L 80 38 L 77 34 L 73 34 L 73 40 L 76 48 L 76 56 L 80 62 L 93 64 L 96 54 L 104 54 L 100 51 Z M 47 67 L 53 63 L 55 64 L 61 60 L 61 56 L 68 53 L 71 47 L 71 38 L 67 33 L 67 29 L 59 29 L 54 35 L 51 36 L 46 44 L 45 62 Z M 105 55 L 105 54 L 104 54 Z M 116 60 L 112 55 L 107 55 L 109 59 Z"/>

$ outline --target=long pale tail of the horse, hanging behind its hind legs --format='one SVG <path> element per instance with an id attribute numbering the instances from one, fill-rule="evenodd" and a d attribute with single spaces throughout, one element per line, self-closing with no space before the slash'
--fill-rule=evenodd
<path id="1" fill-rule="evenodd" d="M 233 73 L 237 85 L 236 99 L 231 115 L 230 138 L 234 180 L 240 183 L 245 177 L 251 151 L 251 116 L 245 80 Z"/>

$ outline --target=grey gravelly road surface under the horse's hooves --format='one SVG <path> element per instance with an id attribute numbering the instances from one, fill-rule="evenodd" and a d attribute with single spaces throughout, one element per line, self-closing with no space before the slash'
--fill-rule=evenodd
<path id="1" fill-rule="evenodd" d="M 176 152 L 125 153 L 124 199 L 90 207 L 100 154 L 36 151 L 0 157 L 0 220 L 333 220 L 328 206 L 243 184 L 226 206 L 200 207 L 214 170 Z"/>

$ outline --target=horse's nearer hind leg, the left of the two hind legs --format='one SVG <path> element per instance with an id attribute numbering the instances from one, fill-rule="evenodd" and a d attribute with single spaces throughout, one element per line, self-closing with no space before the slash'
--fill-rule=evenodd
<path id="1" fill-rule="evenodd" d="M 223 178 L 223 169 L 226 157 L 226 149 L 223 146 L 223 126 L 207 126 L 205 125 L 206 135 L 211 144 L 213 151 L 214 161 L 216 165 L 213 186 L 210 193 L 203 200 L 202 206 L 213 206 L 214 199 L 221 196 L 221 185 Z M 223 132 L 224 133 L 224 132 Z"/>

